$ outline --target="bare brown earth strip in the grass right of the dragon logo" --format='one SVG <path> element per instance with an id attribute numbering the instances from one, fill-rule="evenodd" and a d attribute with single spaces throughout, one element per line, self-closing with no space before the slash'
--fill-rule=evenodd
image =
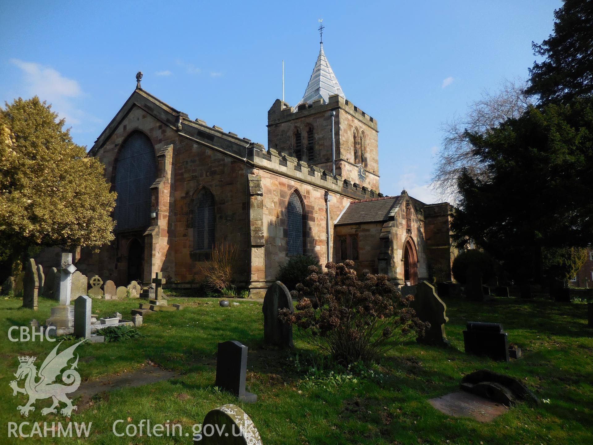
<path id="1" fill-rule="evenodd" d="M 160 367 L 145 365 L 136 371 L 132 371 L 130 373 L 121 373 L 119 376 L 106 376 L 97 380 L 82 382 L 80 387 L 71 395 L 69 395 L 69 398 L 74 400 L 78 397 L 82 397 L 81 400 L 76 402 L 76 405 L 78 405 L 78 411 L 81 411 L 81 409 L 88 408 L 88 402 L 90 402 L 94 395 L 100 392 L 109 392 L 116 389 L 143 386 L 145 384 L 160 382 L 161 380 L 168 380 L 175 377 L 176 375 L 177 374 L 173 371 L 167 371 Z"/>

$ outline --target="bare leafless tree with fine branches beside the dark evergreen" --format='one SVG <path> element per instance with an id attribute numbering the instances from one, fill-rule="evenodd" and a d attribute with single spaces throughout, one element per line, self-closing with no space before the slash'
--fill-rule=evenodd
<path id="1" fill-rule="evenodd" d="M 524 93 L 526 82 L 515 78 L 500 82 L 496 93 L 482 91 L 482 97 L 468 105 L 466 116 L 454 116 L 441 126 L 442 146 L 436 154 L 432 187 L 440 198 L 458 202 L 457 178 L 461 170 L 467 169 L 473 177 L 486 176 L 486 169 L 474 154 L 473 146 L 466 136 L 470 133 L 484 133 L 496 128 L 507 119 L 521 116 L 533 103 Z"/>

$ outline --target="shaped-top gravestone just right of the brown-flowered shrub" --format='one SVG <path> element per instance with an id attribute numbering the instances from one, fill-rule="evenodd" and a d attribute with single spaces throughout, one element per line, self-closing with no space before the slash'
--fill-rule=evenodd
<path id="1" fill-rule="evenodd" d="M 436 295 L 435 288 L 427 281 L 416 286 L 416 295 L 410 307 L 416 311 L 416 317 L 423 322 L 431 323 L 423 337 L 416 338 L 419 343 L 429 345 L 448 346 L 450 342 L 445 335 L 447 305 Z"/>

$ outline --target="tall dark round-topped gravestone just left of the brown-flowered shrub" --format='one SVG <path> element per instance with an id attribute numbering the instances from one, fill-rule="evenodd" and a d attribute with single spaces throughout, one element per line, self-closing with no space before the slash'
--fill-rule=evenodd
<path id="1" fill-rule="evenodd" d="M 281 348 L 294 348 L 292 343 L 292 325 L 283 323 L 278 318 L 280 309 L 294 312 L 291 293 L 280 281 L 273 283 L 263 298 L 263 339 L 267 344 Z"/>

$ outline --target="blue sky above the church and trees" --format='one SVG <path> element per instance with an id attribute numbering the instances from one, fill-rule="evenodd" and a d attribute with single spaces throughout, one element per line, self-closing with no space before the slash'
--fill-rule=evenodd
<path id="1" fill-rule="evenodd" d="M 484 88 L 527 77 L 560 0 L 3 1 L 0 99 L 53 104 L 93 142 L 135 88 L 267 145 L 267 110 L 304 94 L 324 50 L 346 98 L 379 125 L 381 192 L 433 202 L 441 123 Z"/>

